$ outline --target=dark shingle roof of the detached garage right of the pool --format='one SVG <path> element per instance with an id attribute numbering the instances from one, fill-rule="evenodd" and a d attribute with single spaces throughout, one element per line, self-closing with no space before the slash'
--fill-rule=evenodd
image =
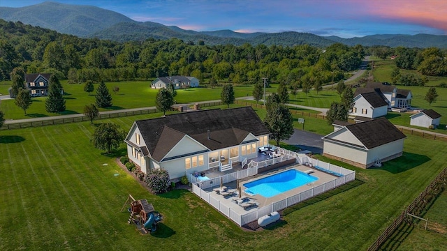
<path id="1" fill-rule="evenodd" d="M 388 119 L 379 118 L 346 126 L 367 149 L 381 146 L 406 136 L 400 132 Z"/>

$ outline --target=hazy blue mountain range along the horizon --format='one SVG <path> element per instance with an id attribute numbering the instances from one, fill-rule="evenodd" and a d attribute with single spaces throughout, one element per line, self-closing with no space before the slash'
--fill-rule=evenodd
<path id="1" fill-rule="evenodd" d="M 387 34 L 355 38 L 338 36 L 317 36 L 312 33 L 294 31 L 281 33 L 238 33 L 230 30 L 191 31 L 177 26 L 166 26 L 156 22 L 137 22 L 112 10 L 95 6 L 71 5 L 57 2 L 43 2 L 20 8 L 0 7 L 0 18 L 6 21 L 31 24 L 68 33 L 83 38 L 100 38 L 117 40 L 146 40 L 147 38 L 179 38 L 184 41 L 207 45 L 283 45 L 293 46 L 308 44 L 327 47 L 333 43 L 345 45 L 385 45 L 389 47 L 439 47 L 447 48 L 447 36 L 417 34 Z"/>

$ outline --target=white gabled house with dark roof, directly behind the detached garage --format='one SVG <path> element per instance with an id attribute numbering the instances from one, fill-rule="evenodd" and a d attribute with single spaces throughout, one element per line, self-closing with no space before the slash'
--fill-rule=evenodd
<path id="1" fill-rule="evenodd" d="M 388 103 L 383 100 L 380 93 L 372 91 L 360 93 L 354 98 L 354 106 L 349 115 L 374 119 L 385 116 L 387 112 Z"/>

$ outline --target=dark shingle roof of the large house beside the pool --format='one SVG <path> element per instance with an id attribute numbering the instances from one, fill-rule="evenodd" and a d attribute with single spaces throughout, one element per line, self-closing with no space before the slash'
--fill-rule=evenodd
<path id="1" fill-rule="evenodd" d="M 186 112 L 135 123 L 155 160 L 161 160 L 186 135 L 216 150 L 241 144 L 249 132 L 255 136 L 270 133 L 251 107 Z"/>

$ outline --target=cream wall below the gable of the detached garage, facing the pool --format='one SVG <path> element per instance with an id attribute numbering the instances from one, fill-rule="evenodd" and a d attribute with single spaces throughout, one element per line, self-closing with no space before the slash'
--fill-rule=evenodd
<path id="1" fill-rule="evenodd" d="M 367 150 L 360 150 L 353 146 L 346 146 L 337 144 L 334 142 L 323 142 L 323 153 L 337 156 L 338 158 L 344 158 L 345 160 L 351 160 L 361 164 L 366 164 Z"/>

